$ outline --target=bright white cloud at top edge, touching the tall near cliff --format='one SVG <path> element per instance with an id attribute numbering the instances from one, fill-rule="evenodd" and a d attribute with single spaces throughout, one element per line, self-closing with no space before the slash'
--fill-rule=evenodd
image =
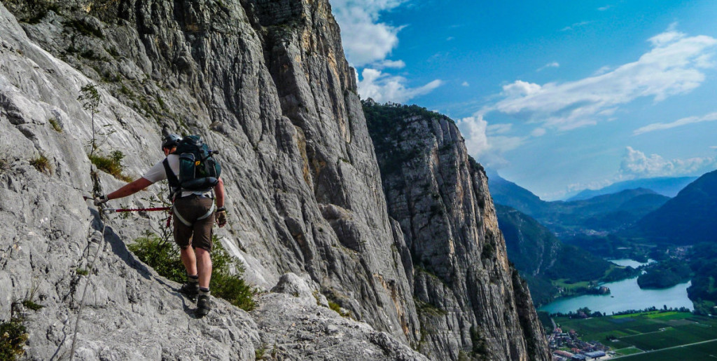
<path id="1" fill-rule="evenodd" d="M 402 27 L 379 22 L 381 11 L 401 5 L 405 0 L 331 0 L 341 42 L 351 65 L 360 67 L 384 60 L 397 46 Z"/>

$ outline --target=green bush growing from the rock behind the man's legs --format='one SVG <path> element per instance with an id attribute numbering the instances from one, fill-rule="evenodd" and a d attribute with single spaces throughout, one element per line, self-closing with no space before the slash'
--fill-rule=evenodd
<path id="1" fill-rule="evenodd" d="M 256 306 L 254 291 L 242 278 L 244 268 L 236 258 L 229 255 L 216 236 L 213 236 L 213 240 L 212 282 L 209 283 L 212 294 L 240 309 L 251 311 Z M 129 249 L 161 276 L 180 283 L 186 281 L 179 247 L 171 240 L 162 240 L 158 235 L 147 233 L 129 245 Z"/>

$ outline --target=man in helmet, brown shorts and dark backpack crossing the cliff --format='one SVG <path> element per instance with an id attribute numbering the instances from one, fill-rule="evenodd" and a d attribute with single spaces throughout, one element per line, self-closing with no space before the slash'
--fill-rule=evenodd
<path id="1" fill-rule="evenodd" d="M 227 211 L 224 208 L 224 182 L 219 177 L 221 168 L 218 164 L 216 164 L 216 178 L 208 178 L 208 182 L 204 182 L 205 179 L 191 179 L 201 183 L 199 189 L 180 185 L 178 177 L 181 177 L 181 167 L 186 167 L 186 164 L 189 164 L 192 169 L 191 173 L 194 174 L 195 165 L 199 167 L 200 164 L 200 161 L 195 163 L 194 157 L 189 159 L 189 163 L 184 162 L 187 155 L 192 156 L 192 154 L 184 153 L 188 147 L 186 144 L 191 141 L 198 141 L 199 146 L 202 146 L 199 136 L 187 136 L 184 141 L 176 134 L 165 136 L 162 141 L 165 159 L 154 164 L 141 178 L 125 184 L 115 192 L 96 197 L 95 205 L 99 206 L 108 200 L 127 197 L 155 182 L 168 180 L 171 190 L 170 197 L 173 200 L 174 242 L 181 248 L 181 261 L 184 263 L 187 276 L 186 283 L 179 291 L 191 299 L 197 298 L 196 315 L 204 317 L 212 309 L 209 301 L 209 281 L 212 277 L 212 259 L 209 257 L 209 252 L 212 250 L 212 226 L 216 218 L 217 225 L 220 228 L 224 227 L 227 224 Z M 178 146 L 181 151 L 175 154 Z M 208 148 L 204 146 L 204 149 L 206 154 Z M 212 151 L 209 151 L 209 155 L 204 156 L 202 161 L 211 157 L 212 154 Z M 210 160 L 214 166 L 213 159 Z M 185 184 L 185 182 L 181 184 Z M 211 187 L 207 189 L 207 185 Z M 194 190 L 189 190 L 187 187 Z M 202 187 L 204 189 L 201 189 Z M 214 203 L 215 195 L 216 204 Z M 216 212 L 214 212 L 215 207 Z"/>

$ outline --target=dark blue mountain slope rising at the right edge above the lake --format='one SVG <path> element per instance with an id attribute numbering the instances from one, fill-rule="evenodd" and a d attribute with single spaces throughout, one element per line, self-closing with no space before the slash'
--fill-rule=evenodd
<path id="1" fill-rule="evenodd" d="M 623 234 L 675 245 L 716 241 L 717 171 L 690 183 Z"/>

